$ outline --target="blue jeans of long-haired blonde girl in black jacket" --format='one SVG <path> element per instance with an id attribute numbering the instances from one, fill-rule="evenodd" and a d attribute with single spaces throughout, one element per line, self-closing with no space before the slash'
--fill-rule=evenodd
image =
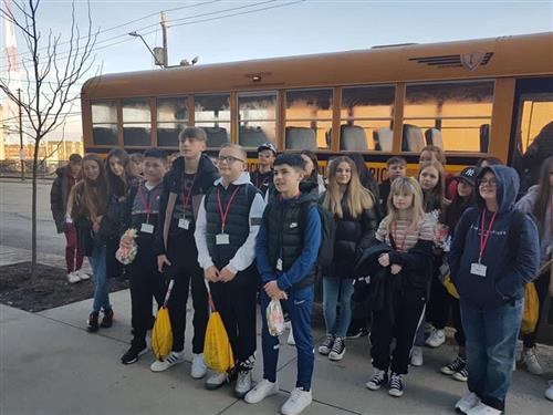
<path id="1" fill-rule="evenodd" d="M 323 309 L 326 333 L 345 338 L 352 320 L 353 279 L 323 278 Z M 336 314 L 340 297 L 340 315 Z"/>

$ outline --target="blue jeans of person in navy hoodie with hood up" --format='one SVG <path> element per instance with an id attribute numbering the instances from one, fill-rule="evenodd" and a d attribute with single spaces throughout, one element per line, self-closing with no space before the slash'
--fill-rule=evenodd
<path id="1" fill-rule="evenodd" d="M 461 301 L 469 391 L 499 411 L 504 409 L 511 385 L 522 303 L 519 299 L 495 309 L 481 309 Z"/>

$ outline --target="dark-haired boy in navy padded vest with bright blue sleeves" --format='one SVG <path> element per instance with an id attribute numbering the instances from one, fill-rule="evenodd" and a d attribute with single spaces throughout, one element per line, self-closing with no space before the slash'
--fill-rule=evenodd
<path id="1" fill-rule="evenodd" d="M 288 307 L 298 350 L 298 380 L 281 408 L 284 415 L 299 414 L 312 402 L 314 355 L 311 312 L 322 235 L 316 209 L 319 193 L 313 191 L 317 184 L 301 183 L 304 169 L 305 162 L 299 154 L 276 157 L 274 186 L 279 195 L 263 214 L 255 245 L 255 259 L 263 284 L 260 292 L 263 380 L 246 395 L 246 402 L 254 404 L 279 392 L 279 338 L 269 334 L 265 310 L 271 300 L 281 300 Z M 306 215 L 301 214 L 302 209 L 307 209 Z"/>

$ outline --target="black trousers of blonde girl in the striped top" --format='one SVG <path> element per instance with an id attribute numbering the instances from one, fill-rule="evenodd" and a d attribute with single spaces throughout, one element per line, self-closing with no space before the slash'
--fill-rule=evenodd
<path id="1" fill-rule="evenodd" d="M 374 367 L 380 371 L 390 367 L 394 373 L 407 374 L 415 334 L 425 315 L 425 300 L 397 295 L 394 299 L 394 321 L 387 309 L 373 312 L 371 355 Z M 396 347 L 390 356 L 394 338 Z"/>

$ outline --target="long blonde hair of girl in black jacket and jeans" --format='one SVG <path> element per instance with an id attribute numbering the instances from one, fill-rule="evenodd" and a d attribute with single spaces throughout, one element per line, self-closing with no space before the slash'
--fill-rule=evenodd
<path id="1" fill-rule="evenodd" d="M 336 170 L 342 163 L 346 163 L 352 172 L 352 178 L 343 196 L 340 191 L 340 185 L 336 181 Z M 323 207 L 340 219 L 344 217 L 342 209 L 343 197 L 345 198 L 347 211 L 354 219 L 358 218 L 364 210 L 372 209 L 374 206 L 373 194 L 363 187 L 354 160 L 346 156 L 336 157 L 328 165 L 328 188 L 323 199 Z"/>

